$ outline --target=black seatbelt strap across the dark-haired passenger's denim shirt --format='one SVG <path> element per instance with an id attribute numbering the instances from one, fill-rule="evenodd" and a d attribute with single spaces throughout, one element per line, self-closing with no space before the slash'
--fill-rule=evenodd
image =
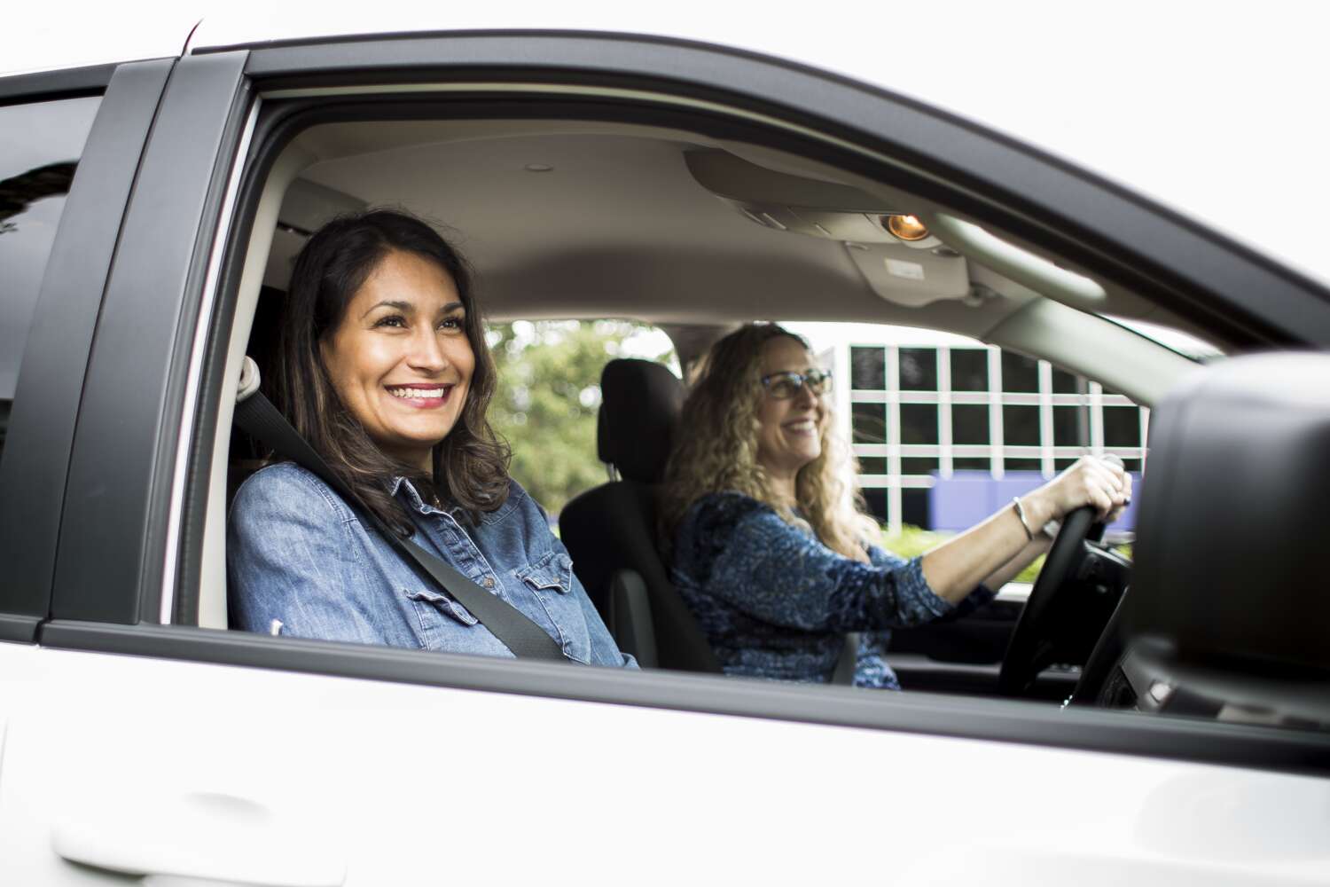
<path id="1" fill-rule="evenodd" d="M 410 539 L 402 539 L 374 512 L 366 508 L 342 480 L 332 473 L 323 457 L 291 427 L 277 407 L 261 392 L 254 391 L 235 404 L 235 424 L 250 436 L 271 447 L 302 468 L 314 472 L 356 512 L 362 521 L 372 527 L 383 539 L 406 557 L 416 573 L 431 581 L 458 602 L 497 637 L 517 658 L 555 660 L 567 662 L 563 649 L 516 606 L 497 594 L 480 588 L 442 559 L 420 548 Z"/>

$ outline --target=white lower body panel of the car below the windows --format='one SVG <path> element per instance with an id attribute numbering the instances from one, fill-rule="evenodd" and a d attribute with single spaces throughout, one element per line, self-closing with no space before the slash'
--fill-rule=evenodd
<path id="1" fill-rule="evenodd" d="M 98 822 L 120 871 L 235 883 L 1330 883 L 1314 777 L 12 644 L 0 674 L 8 883 L 121 883 L 61 859 Z"/>

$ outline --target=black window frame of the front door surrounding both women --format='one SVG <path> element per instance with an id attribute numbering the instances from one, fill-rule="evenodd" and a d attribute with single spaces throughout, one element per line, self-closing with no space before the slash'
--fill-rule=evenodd
<path id="1" fill-rule="evenodd" d="M 172 70 L 106 286 L 44 646 L 1330 773 L 1330 735 L 1314 733 L 931 694 L 888 701 L 839 688 L 161 624 L 164 589 L 197 593 L 190 559 L 198 557 L 202 507 L 197 497 L 186 507 L 185 496 L 206 487 L 213 457 L 215 342 L 229 334 L 227 287 L 237 285 L 258 180 L 253 166 L 242 172 L 255 156 L 246 153 L 255 98 L 477 78 L 656 92 L 783 121 L 789 133 L 819 137 L 819 150 L 837 164 L 868 174 L 888 164 L 919 193 L 1047 243 L 1162 305 L 1201 313 L 1234 340 L 1330 343 L 1326 295 L 1315 283 L 1011 140 L 790 63 L 672 40 L 529 32 L 196 49 Z M 168 598 L 165 612 L 188 609 Z"/>

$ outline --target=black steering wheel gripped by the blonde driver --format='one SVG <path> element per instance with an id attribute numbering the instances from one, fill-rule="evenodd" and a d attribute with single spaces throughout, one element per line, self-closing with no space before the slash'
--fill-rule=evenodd
<path id="1" fill-rule="evenodd" d="M 1021 696 L 1052 661 L 1053 642 L 1059 634 L 1055 630 L 1057 620 L 1051 614 L 1057 612 L 1055 602 L 1081 560 L 1085 539 L 1093 524 L 1095 509 L 1089 505 L 1069 512 L 1063 520 L 1007 644 L 1007 654 L 998 674 L 998 692 L 1003 696 Z"/>

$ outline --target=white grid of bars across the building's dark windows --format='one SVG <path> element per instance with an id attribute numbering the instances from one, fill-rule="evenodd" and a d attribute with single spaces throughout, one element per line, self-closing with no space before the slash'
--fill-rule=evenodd
<path id="1" fill-rule="evenodd" d="M 875 347 L 875 346 L 851 346 Z M 912 346 L 918 347 L 918 346 Z M 988 390 L 987 391 L 952 391 L 951 390 L 951 352 L 950 346 L 936 346 L 932 348 L 936 360 L 936 391 L 902 391 L 900 390 L 900 347 L 883 346 L 886 363 L 886 390 L 851 388 L 845 392 L 849 410 L 845 410 L 846 420 L 855 403 L 880 403 L 886 414 L 886 444 L 854 444 L 857 456 L 886 459 L 886 475 L 861 475 L 861 484 L 864 488 L 884 488 L 887 491 L 887 516 L 892 529 L 900 527 L 902 491 L 932 487 L 934 479 L 923 475 L 902 473 L 902 459 L 927 457 L 938 460 L 938 475 L 951 477 L 955 459 L 988 459 L 990 473 L 1000 479 L 1005 473 L 1005 459 L 1032 459 L 1040 463 L 1040 473 L 1052 477 L 1056 473 L 1056 463 L 1060 459 L 1075 459 L 1087 452 L 1103 455 L 1105 451 L 1116 452 L 1123 459 L 1138 459 L 1145 456 L 1145 443 L 1149 432 L 1149 410 L 1138 407 L 1140 418 L 1140 447 L 1105 447 L 1104 443 L 1104 407 L 1136 407 L 1125 395 L 1104 394 L 1104 388 L 1097 382 L 1088 382 L 1081 394 L 1055 394 L 1053 367 L 1047 360 L 1039 360 L 1039 391 L 1037 392 L 1003 392 L 1001 348 L 998 346 L 982 346 L 988 356 Z M 959 350 L 959 348 L 958 348 Z M 975 348 L 980 350 L 980 348 Z M 849 355 L 850 348 L 843 348 Z M 838 360 L 838 363 L 841 363 Z M 849 359 L 841 366 L 849 370 Z M 849 375 L 849 372 L 846 372 Z M 849 388 L 849 386 L 847 386 Z M 938 406 L 938 444 L 903 444 L 900 426 L 902 404 L 936 404 Z M 952 442 L 951 407 L 954 404 L 987 404 L 988 406 L 988 444 L 955 444 Z M 1036 406 L 1039 407 L 1039 445 L 1007 445 L 1003 434 L 1003 407 L 1005 406 Z M 1053 443 L 1053 407 L 1088 407 L 1089 414 L 1089 445 L 1056 445 Z M 851 432 L 853 434 L 853 432 Z"/>

